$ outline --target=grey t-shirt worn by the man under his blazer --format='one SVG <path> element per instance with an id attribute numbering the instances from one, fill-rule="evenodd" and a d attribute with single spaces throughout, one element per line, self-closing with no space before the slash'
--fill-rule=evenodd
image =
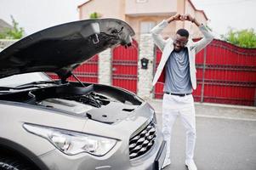
<path id="1" fill-rule="evenodd" d="M 166 63 L 164 92 L 173 94 L 192 93 L 188 49 L 173 51 Z"/>

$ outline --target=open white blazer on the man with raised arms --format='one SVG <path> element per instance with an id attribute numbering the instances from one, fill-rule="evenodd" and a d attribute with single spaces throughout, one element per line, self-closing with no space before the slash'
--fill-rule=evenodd
<path id="1" fill-rule="evenodd" d="M 156 43 L 156 46 L 160 48 L 162 51 L 162 58 L 160 60 L 160 63 L 156 69 L 156 74 L 153 79 L 153 86 L 156 85 L 156 82 L 158 81 L 159 77 L 162 74 L 162 71 L 164 71 L 164 66 L 168 60 L 168 57 L 170 56 L 171 52 L 174 50 L 174 41 L 172 38 L 168 38 L 167 40 L 164 40 L 160 33 L 162 30 L 168 26 L 167 20 L 162 20 L 161 23 L 159 23 L 157 26 L 152 28 L 151 35 L 153 37 L 154 42 Z M 199 26 L 199 30 L 202 32 L 202 39 L 198 42 L 193 42 L 191 39 L 187 43 L 186 47 L 188 48 L 189 52 L 189 61 L 190 61 L 190 71 L 191 71 L 191 84 L 192 88 L 196 89 L 196 54 L 202 49 L 205 48 L 208 43 L 213 41 L 213 35 L 208 31 L 208 29 L 205 26 Z"/>

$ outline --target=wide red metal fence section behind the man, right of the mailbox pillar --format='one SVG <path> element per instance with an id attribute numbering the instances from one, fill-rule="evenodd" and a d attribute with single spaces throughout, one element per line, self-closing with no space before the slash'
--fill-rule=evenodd
<path id="1" fill-rule="evenodd" d="M 161 59 L 156 49 L 156 66 Z M 197 88 L 194 99 L 201 102 L 255 105 L 256 49 L 238 48 L 213 40 L 196 54 Z M 155 98 L 162 99 L 163 85 L 156 84 Z"/>

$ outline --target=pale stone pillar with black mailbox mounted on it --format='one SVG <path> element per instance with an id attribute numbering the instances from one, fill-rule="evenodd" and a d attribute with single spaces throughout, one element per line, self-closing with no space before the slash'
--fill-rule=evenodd
<path id="1" fill-rule="evenodd" d="M 147 69 L 143 69 L 140 59 L 149 59 Z M 138 95 L 143 99 L 152 99 L 153 92 L 153 60 L 154 42 L 151 34 L 141 34 L 139 37 L 139 60 L 138 60 Z"/>

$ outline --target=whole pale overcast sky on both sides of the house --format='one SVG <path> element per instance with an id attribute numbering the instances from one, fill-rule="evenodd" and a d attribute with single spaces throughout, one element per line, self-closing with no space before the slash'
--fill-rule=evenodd
<path id="1" fill-rule="evenodd" d="M 77 6 L 87 0 L 0 0 L 0 19 L 11 23 L 10 15 L 26 34 L 69 21 L 79 20 Z M 104 1 L 104 0 L 101 0 Z M 228 27 L 256 31 L 256 0 L 191 0 L 204 10 L 214 35 L 222 35 Z"/>

